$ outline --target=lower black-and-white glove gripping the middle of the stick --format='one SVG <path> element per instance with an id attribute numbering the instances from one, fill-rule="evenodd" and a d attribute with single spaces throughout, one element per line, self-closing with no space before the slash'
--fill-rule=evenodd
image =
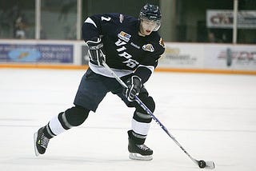
<path id="1" fill-rule="evenodd" d="M 128 88 L 124 89 L 124 94 L 128 101 L 134 101 L 134 97 L 137 96 L 142 89 L 142 79 L 134 75 L 126 81 L 126 85 Z"/>

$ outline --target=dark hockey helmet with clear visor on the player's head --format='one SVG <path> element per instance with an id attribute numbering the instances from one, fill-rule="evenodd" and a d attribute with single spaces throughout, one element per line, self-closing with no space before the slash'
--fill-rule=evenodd
<path id="1" fill-rule="evenodd" d="M 158 6 L 147 3 L 145 6 L 142 7 L 142 10 L 140 11 L 138 18 L 140 20 L 146 19 L 153 22 L 157 22 L 158 26 L 154 29 L 154 31 L 157 31 L 161 26 L 162 14 Z"/>

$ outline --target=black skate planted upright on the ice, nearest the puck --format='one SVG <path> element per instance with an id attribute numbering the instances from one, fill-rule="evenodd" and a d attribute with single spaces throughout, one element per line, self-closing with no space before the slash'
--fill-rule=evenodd
<path id="1" fill-rule="evenodd" d="M 128 151 L 130 152 L 129 158 L 133 160 L 150 161 L 153 159 L 153 150 L 146 145 L 136 144 L 135 141 L 129 137 Z"/>

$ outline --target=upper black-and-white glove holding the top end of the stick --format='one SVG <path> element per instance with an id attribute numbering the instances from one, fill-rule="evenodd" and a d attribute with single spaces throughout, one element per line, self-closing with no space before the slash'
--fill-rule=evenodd
<path id="1" fill-rule="evenodd" d="M 102 66 L 102 62 L 106 62 L 105 54 L 102 52 L 103 43 L 100 38 L 92 38 L 92 40 L 86 42 L 89 46 L 89 58 L 90 62 L 95 65 Z"/>

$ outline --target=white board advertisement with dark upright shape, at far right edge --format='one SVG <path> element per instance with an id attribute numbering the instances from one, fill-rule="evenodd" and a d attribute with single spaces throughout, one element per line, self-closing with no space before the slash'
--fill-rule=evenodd
<path id="1" fill-rule="evenodd" d="M 256 70 L 255 46 L 205 46 L 205 68 Z"/>

